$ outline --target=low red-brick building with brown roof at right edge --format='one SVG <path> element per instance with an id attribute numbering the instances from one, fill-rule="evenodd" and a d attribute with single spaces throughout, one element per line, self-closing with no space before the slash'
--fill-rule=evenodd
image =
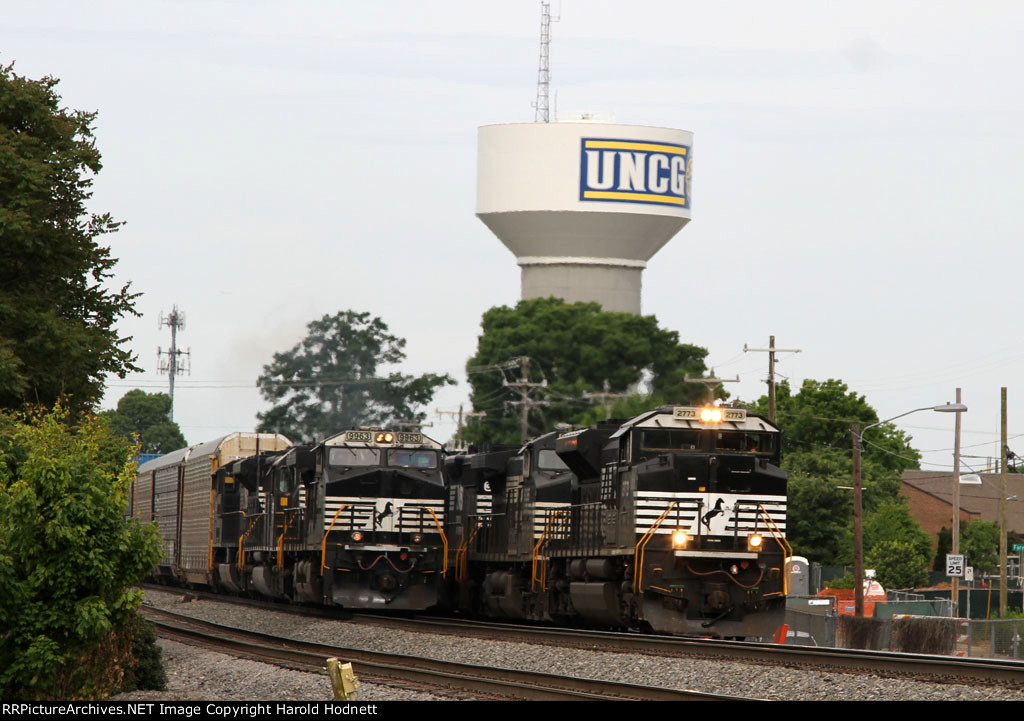
<path id="1" fill-rule="evenodd" d="M 903 471 L 900 495 L 906 498 L 910 515 L 938 546 L 942 526 L 952 527 L 953 474 L 936 471 Z M 981 518 L 999 522 L 999 474 L 961 474 L 961 525 Z M 1007 529 L 1024 534 L 1024 474 L 1007 474 Z"/>

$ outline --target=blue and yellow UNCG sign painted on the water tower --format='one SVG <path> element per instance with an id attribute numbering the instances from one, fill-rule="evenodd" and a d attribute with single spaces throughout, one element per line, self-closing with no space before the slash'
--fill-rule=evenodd
<path id="1" fill-rule="evenodd" d="M 585 137 L 580 200 L 690 207 L 690 146 Z"/>

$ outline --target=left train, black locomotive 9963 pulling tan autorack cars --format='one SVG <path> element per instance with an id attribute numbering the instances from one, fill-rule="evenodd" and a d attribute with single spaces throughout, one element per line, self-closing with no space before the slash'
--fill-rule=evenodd
<path id="1" fill-rule="evenodd" d="M 161 527 L 164 580 L 421 610 L 444 600 L 442 454 L 421 433 L 232 433 L 142 465 L 131 512 Z"/>

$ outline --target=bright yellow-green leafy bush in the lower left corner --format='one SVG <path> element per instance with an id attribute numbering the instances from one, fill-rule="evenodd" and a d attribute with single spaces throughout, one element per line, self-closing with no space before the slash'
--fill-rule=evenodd
<path id="1" fill-rule="evenodd" d="M 160 558 L 126 521 L 134 447 L 57 407 L 0 413 L 0 697 L 96 698 L 131 667 L 132 591 Z"/>

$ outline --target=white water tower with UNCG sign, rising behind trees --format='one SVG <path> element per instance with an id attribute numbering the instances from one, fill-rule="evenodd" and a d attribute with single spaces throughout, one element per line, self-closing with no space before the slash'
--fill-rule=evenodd
<path id="1" fill-rule="evenodd" d="M 479 128 L 476 215 L 522 297 L 640 312 L 647 261 L 690 220 L 693 134 L 593 122 Z"/>

